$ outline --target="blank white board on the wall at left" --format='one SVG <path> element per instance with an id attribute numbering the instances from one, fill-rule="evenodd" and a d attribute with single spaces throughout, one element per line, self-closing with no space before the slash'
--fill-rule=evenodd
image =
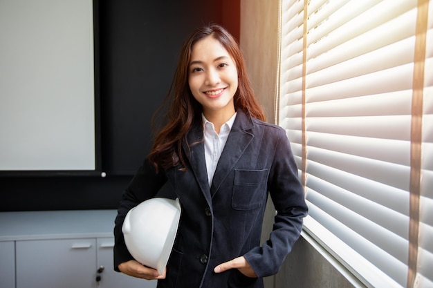
<path id="1" fill-rule="evenodd" d="M 95 169 L 92 0 L 0 1 L 0 171 Z"/>

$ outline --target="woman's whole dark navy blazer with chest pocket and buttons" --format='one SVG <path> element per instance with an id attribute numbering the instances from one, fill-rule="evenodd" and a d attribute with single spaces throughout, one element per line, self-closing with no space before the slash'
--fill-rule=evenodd
<path id="1" fill-rule="evenodd" d="M 160 171 L 144 162 L 127 187 L 116 218 L 114 265 L 132 257 L 125 247 L 122 223 L 140 202 L 172 189 L 182 206 L 181 220 L 167 277 L 158 287 L 263 287 L 264 276 L 279 270 L 302 229 L 307 214 L 304 189 L 283 128 L 251 118 L 242 111 L 230 131 L 212 186 L 208 184 L 203 126 L 194 126 L 183 145 L 187 170 Z M 269 239 L 260 246 L 268 192 L 277 214 Z M 216 265 L 244 256 L 259 278 L 237 269 L 214 273 Z"/>

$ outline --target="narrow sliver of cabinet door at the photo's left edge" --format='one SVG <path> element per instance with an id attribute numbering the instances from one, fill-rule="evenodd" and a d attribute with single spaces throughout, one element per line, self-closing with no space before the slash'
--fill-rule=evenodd
<path id="1" fill-rule="evenodd" d="M 0 242 L 0 288 L 15 287 L 15 242 Z"/>

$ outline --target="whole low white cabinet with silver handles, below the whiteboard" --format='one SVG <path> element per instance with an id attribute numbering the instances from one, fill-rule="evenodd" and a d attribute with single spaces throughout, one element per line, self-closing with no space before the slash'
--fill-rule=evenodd
<path id="1" fill-rule="evenodd" d="M 116 211 L 0 213 L 0 288 L 154 288 L 113 270 Z"/>

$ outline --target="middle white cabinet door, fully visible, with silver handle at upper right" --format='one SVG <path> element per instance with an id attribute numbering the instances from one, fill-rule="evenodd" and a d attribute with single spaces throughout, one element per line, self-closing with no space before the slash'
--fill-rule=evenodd
<path id="1" fill-rule="evenodd" d="M 96 287 L 96 240 L 17 241 L 17 288 Z"/>

